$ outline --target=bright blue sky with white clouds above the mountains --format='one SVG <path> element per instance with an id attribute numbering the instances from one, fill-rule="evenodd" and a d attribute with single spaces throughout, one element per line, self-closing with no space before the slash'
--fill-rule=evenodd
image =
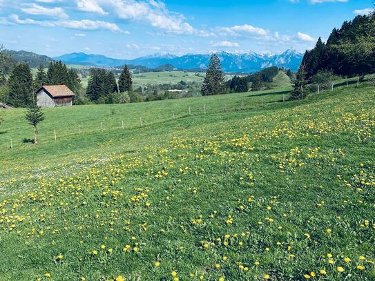
<path id="1" fill-rule="evenodd" d="M 303 52 L 372 0 L 0 0 L 0 44 L 51 57 Z"/>

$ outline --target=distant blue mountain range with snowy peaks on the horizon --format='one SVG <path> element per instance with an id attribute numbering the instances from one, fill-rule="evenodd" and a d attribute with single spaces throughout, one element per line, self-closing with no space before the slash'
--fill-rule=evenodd
<path id="1" fill-rule="evenodd" d="M 256 52 L 247 54 L 234 54 L 230 52 L 218 52 L 222 61 L 222 68 L 226 72 L 257 72 L 270 66 L 278 66 L 298 70 L 303 55 L 296 50 L 287 50 L 280 55 L 260 55 Z M 209 65 L 211 55 L 183 55 L 177 57 L 170 54 L 155 54 L 137 59 L 111 59 L 102 55 L 87 55 L 83 52 L 55 57 L 56 60 L 66 64 L 78 64 L 84 66 L 122 66 L 133 64 L 146 68 L 157 68 L 163 65 L 171 65 L 178 69 L 205 69 Z"/>

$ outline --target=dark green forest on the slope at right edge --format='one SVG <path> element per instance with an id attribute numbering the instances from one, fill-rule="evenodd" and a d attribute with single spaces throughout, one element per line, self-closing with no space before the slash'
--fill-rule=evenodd
<path id="1" fill-rule="evenodd" d="M 327 42 L 321 38 L 305 52 L 292 99 L 303 99 L 309 85 L 331 84 L 335 77 L 363 76 L 375 72 L 375 14 L 359 15 L 334 28 Z"/>

